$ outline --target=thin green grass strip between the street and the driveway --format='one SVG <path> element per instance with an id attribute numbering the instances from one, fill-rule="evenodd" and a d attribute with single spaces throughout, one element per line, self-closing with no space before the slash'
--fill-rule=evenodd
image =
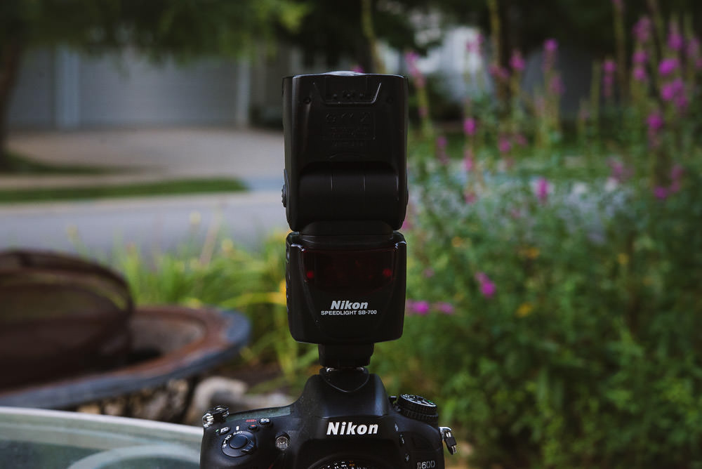
<path id="1" fill-rule="evenodd" d="M 153 195 L 239 192 L 246 185 L 236 179 L 178 179 L 154 183 L 0 190 L 0 204 L 53 202 L 58 200 L 107 199 L 110 197 L 147 197 Z"/>

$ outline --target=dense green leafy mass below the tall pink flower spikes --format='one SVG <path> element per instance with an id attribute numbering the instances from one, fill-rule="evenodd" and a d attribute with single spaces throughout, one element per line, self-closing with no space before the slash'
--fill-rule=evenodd
<path id="1" fill-rule="evenodd" d="M 479 467 L 702 464 L 700 170 L 665 200 L 601 178 L 539 202 L 525 172 L 473 204 L 428 171 L 408 297 L 454 310 L 379 345 L 388 385 L 435 397 Z"/>

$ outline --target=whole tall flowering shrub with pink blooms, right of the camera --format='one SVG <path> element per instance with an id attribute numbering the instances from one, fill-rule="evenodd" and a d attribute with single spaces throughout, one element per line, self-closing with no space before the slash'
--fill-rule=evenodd
<path id="1" fill-rule="evenodd" d="M 595 66 L 575 151 L 553 40 L 531 97 L 520 55 L 491 64 L 510 95 L 466 103 L 463 152 L 427 124 L 409 145 L 408 315 L 373 364 L 477 467 L 702 468 L 699 43 L 656 22 Z"/>

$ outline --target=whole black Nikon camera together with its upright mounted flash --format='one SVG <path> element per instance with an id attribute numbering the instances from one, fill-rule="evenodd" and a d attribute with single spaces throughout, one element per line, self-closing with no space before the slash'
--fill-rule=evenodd
<path id="1" fill-rule="evenodd" d="M 203 417 L 203 469 L 444 468 L 437 406 L 388 397 L 374 344 L 402 336 L 407 82 L 331 72 L 283 80 L 289 329 L 322 370 L 286 407 Z"/>

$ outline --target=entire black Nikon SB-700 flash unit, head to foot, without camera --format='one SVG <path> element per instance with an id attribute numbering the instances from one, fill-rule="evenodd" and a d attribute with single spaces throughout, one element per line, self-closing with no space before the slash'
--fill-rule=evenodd
<path id="1" fill-rule="evenodd" d="M 290 332 L 324 366 L 365 366 L 402 336 L 407 81 L 331 72 L 283 80 Z"/>

